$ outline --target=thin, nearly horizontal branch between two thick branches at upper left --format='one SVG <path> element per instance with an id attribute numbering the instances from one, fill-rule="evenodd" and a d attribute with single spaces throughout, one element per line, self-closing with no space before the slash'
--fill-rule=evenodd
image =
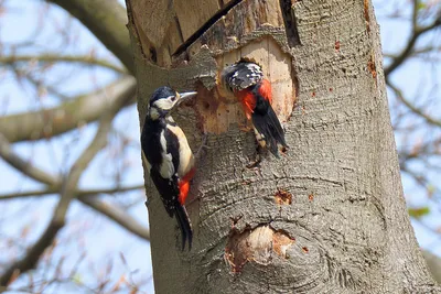
<path id="1" fill-rule="evenodd" d="M 56 55 L 56 54 L 43 54 L 43 55 L 10 55 L 10 56 L 0 56 L 0 64 L 12 65 L 17 63 L 25 63 L 25 62 L 37 62 L 37 63 L 79 63 L 87 65 L 96 65 L 101 67 L 107 67 L 117 73 L 127 74 L 127 72 L 106 61 L 106 59 L 97 59 L 94 56 L 75 56 L 75 55 Z"/>

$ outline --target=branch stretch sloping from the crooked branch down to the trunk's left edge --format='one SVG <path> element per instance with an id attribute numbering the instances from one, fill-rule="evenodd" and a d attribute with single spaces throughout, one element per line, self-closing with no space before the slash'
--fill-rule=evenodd
<path id="1" fill-rule="evenodd" d="M 92 197 L 79 197 L 82 203 L 97 210 L 98 213 L 107 216 L 108 218 L 115 220 L 117 224 L 122 226 L 125 229 L 135 233 L 136 236 L 149 241 L 150 240 L 150 230 L 144 226 L 140 225 L 138 220 L 132 218 L 129 214 L 127 214 L 123 209 L 107 204 L 98 198 L 98 196 Z"/>

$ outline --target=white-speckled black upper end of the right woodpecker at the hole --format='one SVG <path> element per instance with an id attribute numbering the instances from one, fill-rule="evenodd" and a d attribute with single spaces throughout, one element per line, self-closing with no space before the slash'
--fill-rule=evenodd
<path id="1" fill-rule="evenodd" d="M 238 91 L 261 81 L 263 73 L 255 63 L 239 62 L 225 67 L 220 78 L 230 91 Z"/>

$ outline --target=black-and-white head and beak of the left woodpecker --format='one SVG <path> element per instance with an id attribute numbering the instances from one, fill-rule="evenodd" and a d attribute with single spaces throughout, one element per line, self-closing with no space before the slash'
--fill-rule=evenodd
<path id="1" fill-rule="evenodd" d="M 195 96 L 196 94 L 196 91 L 178 92 L 168 86 L 160 87 L 153 91 L 153 95 L 150 98 L 150 107 L 147 111 L 147 116 L 152 120 L 165 118 L 182 101 Z"/>

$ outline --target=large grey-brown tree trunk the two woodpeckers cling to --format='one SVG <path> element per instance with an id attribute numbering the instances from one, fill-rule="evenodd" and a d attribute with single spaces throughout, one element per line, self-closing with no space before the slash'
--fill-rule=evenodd
<path id="1" fill-rule="evenodd" d="M 127 0 L 138 109 L 161 85 L 209 134 L 187 205 L 193 249 L 146 173 L 157 293 L 431 293 L 406 210 L 370 1 Z M 248 57 L 272 83 L 288 152 L 256 157 L 240 106 L 216 84 Z M 249 127 L 249 126 L 248 126 Z"/>

